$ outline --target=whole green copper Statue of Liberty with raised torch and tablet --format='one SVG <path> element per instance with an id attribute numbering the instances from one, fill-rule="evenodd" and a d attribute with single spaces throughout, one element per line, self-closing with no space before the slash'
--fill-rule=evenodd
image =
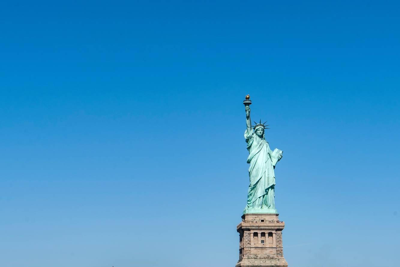
<path id="1" fill-rule="evenodd" d="M 246 109 L 246 125 L 244 138 L 247 142 L 247 149 L 250 155 L 247 163 L 250 176 L 248 188 L 247 205 L 243 213 L 277 213 L 275 209 L 275 165 L 282 158 L 282 151 L 272 151 L 265 140 L 265 122 L 251 125 L 250 120 L 250 96 L 244 101 Z M 254 127 L 254 128 L 253 128 Z"/>

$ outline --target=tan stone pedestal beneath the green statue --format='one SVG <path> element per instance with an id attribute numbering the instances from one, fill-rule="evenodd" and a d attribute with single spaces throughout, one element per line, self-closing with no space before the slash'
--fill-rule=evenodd
<path id="1" fill-rule="evenodd" d="M 246 213 L 236 227 L 240 237 L 236 267 L 286 267 L 283 257 L 283 221 L 277 213 Z"/>

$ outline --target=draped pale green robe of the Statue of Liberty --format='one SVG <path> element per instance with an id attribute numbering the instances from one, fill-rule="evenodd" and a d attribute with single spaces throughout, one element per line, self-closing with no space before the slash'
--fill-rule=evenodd
<path id="1" fill-rule="evenodd" d="M 260 138 L 252 129 L 250 134 L 244 132 L 249 156 L 247 163 L 250 185 L 247 195 L 247 207 L 250 209 L 275 209 L 275 173 L 274 167 L 280 160 L 270 149 L 265 138 Z M 280 151 L 282 152 L 282 151 Z"/>

